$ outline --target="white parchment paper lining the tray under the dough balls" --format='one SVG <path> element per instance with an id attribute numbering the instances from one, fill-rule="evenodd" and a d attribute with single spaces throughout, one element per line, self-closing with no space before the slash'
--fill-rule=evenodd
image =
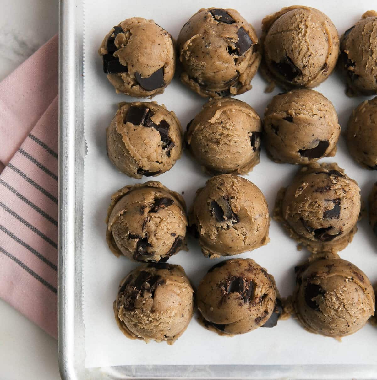
<path id="1" fill-rule="evenodd" d="M 373 1 L 357 3 L 338 1 L 304 1 L 327 14 L 341 34 L 351 27 L 361 14 L 372 9 Z M 236 337 L 221 337 L 207 331 L 194 317 L 182 337 L 173 346 L 164 343 L 128 340 L 116 325 L 112 304 L 120 280 L 137 264 L 124 257 L 112 255 L 105 242 L 104 223 L 110 196 L 126 184 L 146 182 L 119 173 L 107 158 L 105 128 L 114 116 L 117 103 L 134 101 L 126 95 L 116 94 L 102 73 L 97 49 L 103 36 L 113 25 L 132 16 L 154 19 L 177 38 L 181 26 L 199 8 L 218 6 L 240 11 L 260 35 L 261 20 L 290 3 L 281 1 L 138 1 L 108 2 L 87 0 L 84 5 L 84 130 L 87 155 L 84 162 L 84 252 L 83 252 L 83 318 L 85 325 L 86 367 L 129 364 L 375 364 L 377 330 L 367 325 L 342 343 L 335 339 L 306 332 L 295 320 L 280 321 L 275 328 L 260 328 Z M 266 83 L 258 74 L 252 81 L 253 89 L 237 96 L 250 104 L 260 116 L 274 93 L 263 92 Z M 352 109 L 366 97 L 347 98 L 338 74 L 333 74 L 316 88 L 334 104 L 342 129 Z M 205 99 L 186 89 L 176 77 L 162 95 L 153 98 L 173 110 L 183 127 L 191 120 Z M 346 173 L 356 179 L 366 199 L 377 173 L 357 166 L 349 157 L 342 137 L 338 152 L 333 158 Z M 288 184 L 297 170 L 296 166 L 278 165 L 270 161 L 264 151 L 261 163 L 245 176 L 254 182 L 267 198 L 270 212 L 278 189 Z M 198 187 L 208 177 L 185 152 L 175 166 L 161 176 L 154 177 L 177 192 L 184 192 L 188 207 Z M 274 220 L 270 226 L 271 242 L 253 252 L 237 257 L 251 257 L 274 275 L 282 296 L 294 287 L 293 268 L 307 257 L 305 250 L 296 250 L 294 241 L 283 232 Z M 342 258 L 359 266 L 373 283 L 377 282 L 377 239 L 372 234 L 366 218 L 359 223 L 359 231 L 352 244 L 340 253 Z M 196 241 L 189 239 L 189 251 L 181 251 L 169 259 L 181 264 L 197 286 L 205 272 L 218 260 L 204 258 Z"/>

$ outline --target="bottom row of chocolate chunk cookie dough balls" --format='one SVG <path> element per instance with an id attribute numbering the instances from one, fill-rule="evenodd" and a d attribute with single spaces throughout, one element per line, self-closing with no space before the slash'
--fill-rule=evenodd
<path id="1" fill-rule="evenodd" d="M 281 299 L 274 277 L 250 258 L 215 264 L 197 292 L 180 265 L 143 264 L 120 282 L 115 320 L 126 337 L 173 344 L 195 306 L 200 324 L 224 336 L 272 328 L 294 314 L 307 331 L 339 339 L 374 315 L 371 282 L 349 261 L 321 258 L 295 272 L 293 296 Z"/>

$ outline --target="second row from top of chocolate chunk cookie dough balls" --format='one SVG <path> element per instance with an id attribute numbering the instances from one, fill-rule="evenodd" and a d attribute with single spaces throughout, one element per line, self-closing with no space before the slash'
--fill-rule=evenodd
<path id="1" fill-rule="evenodd" d="M 210 100 L 182 128 L 173 111 L 156 102 L 120 103 L 107 130 L 107 152 L 130 177 L 157 176 L 172 168 L 186 146 L 210 175 L 247 174 L 259 163 L 261 141 L 278 163 L 308 165 L 334 156 L 340 125 L 332 103 L 315 90 L 276 95 L 264 120 L 234 98 Z M 350 116 L 348 150 L 364 168 L 377 170 L 377 97 Z"/>

